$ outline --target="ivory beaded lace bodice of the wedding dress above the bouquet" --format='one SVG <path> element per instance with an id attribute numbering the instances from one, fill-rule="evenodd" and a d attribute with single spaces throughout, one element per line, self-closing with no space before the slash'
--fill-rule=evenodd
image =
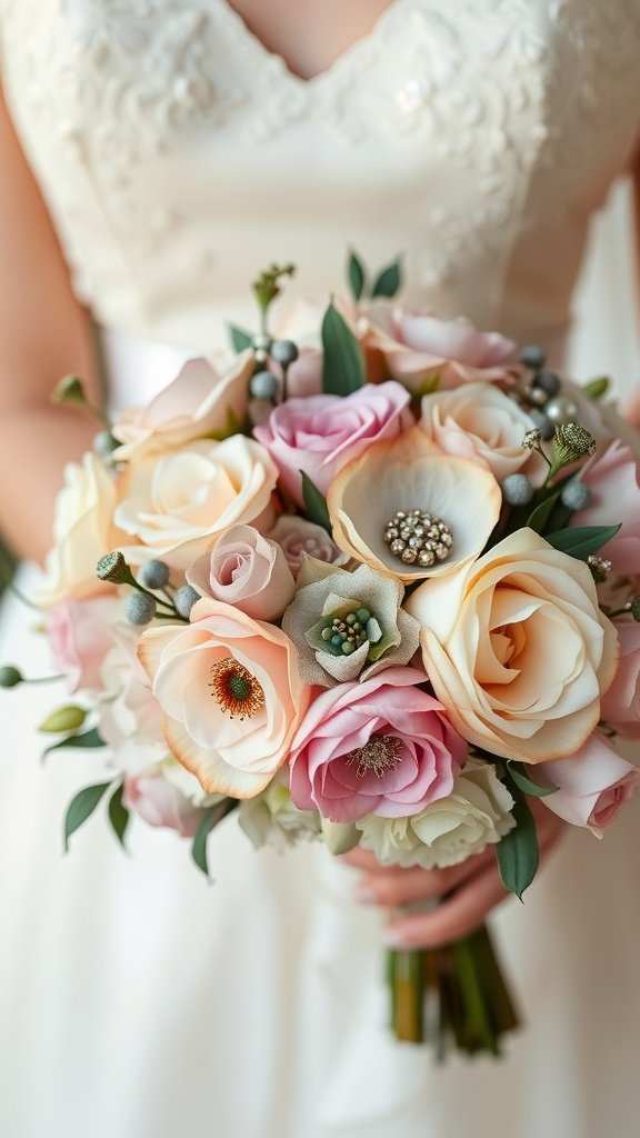
<path id="1" fill-rule="evenodd" d="M 79 295 L 219 343 L 273 259 L 563 336 L 589 215 L 640 131 L 638 0 L 394 0 L 311 81 L 227 0 L 0 0 L 2 80 Z"/>

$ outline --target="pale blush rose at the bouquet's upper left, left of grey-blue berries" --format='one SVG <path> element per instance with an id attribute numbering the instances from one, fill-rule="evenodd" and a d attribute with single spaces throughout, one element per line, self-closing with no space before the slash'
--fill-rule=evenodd
<path id="1" fill-rule="evenodd" d="M 118 462 L 174 450 L 191 439 L 224 437 L 245 418 L 255 362 L 243 352 L 223 374 L 207 360 L 189 360 L 177 379 L 146 406 L 126 411 L 113 427 Z"/>

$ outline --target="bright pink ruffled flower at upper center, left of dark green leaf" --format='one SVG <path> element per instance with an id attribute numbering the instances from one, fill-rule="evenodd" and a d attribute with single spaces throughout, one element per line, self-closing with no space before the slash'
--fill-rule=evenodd
<path id="1" fill-rule="evenodd" d="M 253 432 L 276 462 L 286 493 L 302 505 L 301 470 L 326 494 L 345 463 L 372 443 L 397 437 L 404 415 L 409 415 L 408 404 L 409 395 L 400 384 L 368 384 L 346 398 L 314 395 L 288 399 Z"/>

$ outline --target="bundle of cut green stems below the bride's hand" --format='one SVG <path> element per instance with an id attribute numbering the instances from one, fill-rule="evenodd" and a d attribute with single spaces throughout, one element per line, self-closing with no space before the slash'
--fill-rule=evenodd
<path id="1" fill-rule="evenodd" d="M 501 1054 L 519 1017 L 486 925 L 436 949 L 389 949 L 387 984 L 395 1038 L 466 1055 Z"/>

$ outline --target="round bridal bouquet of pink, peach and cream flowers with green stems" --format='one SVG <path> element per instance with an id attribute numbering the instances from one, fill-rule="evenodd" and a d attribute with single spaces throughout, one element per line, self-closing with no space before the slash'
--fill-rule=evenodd
<path id="1" fill-rule="evenodd" d="M 638 783 L 638 439 L 543 353 L 392 303 L 397 266 L 276 338 L 184 366 L 67 467 L 43 596 L 77 698 L 49 750 L 108 748 L 101 800 L 192 840 L 360 844 L 425 869 L 493 846 L 522 897 L 528 805 L 596 835 Z M 366 298 L 366 294 L 368 297 Z M 290 325 L 289 325 L 290 327 Z M 67 378 L 56 398 L 87 405 Z M 13 667 L 0 683 L 24 677 Z M 402 1039 L 498 1053 L 516 1014 L 489 933 L 389 954 Z"/>

